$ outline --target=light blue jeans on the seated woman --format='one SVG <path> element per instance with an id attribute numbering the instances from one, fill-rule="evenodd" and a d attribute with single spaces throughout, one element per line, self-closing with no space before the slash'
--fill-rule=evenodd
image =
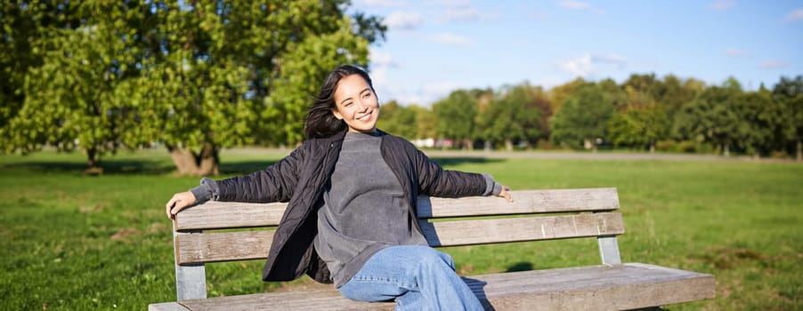
<path id="1" fill-rule="evenodd" d="M 347 299 L 396 300 L 401 310 L 483 310 L 455 273 L 454 261 L 429 246 L 402 245 L 377 251 L 338 291 Z"/>

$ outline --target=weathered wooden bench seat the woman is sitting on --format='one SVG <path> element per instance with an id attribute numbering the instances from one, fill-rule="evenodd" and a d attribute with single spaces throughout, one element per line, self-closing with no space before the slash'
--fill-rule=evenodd
<path id="1" fill-rule="evenodd" d="M 495 310 L 621 310 L 666 306 L 715 294 L 711 275 L 645 264 L 589 266 L 465 277 Z M 391 310 L 393 303 L 365 303 L 337 291 L 288 291 L 185 300 L 192 310 Z"/>

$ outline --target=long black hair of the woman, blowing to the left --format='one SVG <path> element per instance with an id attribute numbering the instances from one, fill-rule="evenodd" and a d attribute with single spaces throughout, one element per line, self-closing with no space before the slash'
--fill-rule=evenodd
<path id="1" fill-rule="evenodd" d="M 348 126 L 345 121 L 338 120 L 332 109 L 335 106 L 335 91 L 340 79 L 346 76 L 360 75 L 374 91 L 374 84 L 371 83 L 371 78 L 368 73 L 361 68 L 352 65 L 345 65 L 335 68 L 326 76 L 323 85 L 320 86 L 320 93 L 318 97 L 312 102 L 312 107 L 307 113 L 306 121 L 304 122 L 304 134 L 307 139 L 327 138 L 334 136 L 337 133 L 345 132 Z"/>

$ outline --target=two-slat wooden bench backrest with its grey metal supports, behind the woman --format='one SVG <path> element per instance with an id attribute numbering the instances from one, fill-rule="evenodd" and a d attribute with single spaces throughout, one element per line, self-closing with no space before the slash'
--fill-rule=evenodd
<path id="1" fill-rule="evenodd" d="M 434 247 L 597 237 L 603 264 L 620 264 L 624 233 L 616 188 L 512 191 L 494 196 L 418 198 L 418 223 Z M 265 259 L 287 203 L 208 202 L 176 215 L 178 300 L 207 297 L 207 262 Z M 487 216 L 503 216 L 494 217 Z M 268 230 L 254 228 L 268 228 Z M 218 230 L 228 229 L 228 230 Z M 243 230 L 231 230 L 243 229 Z M 207 230 L 205 232 L 205 230 Z M 212 231 L 209 231 L 212 230 Z"/>

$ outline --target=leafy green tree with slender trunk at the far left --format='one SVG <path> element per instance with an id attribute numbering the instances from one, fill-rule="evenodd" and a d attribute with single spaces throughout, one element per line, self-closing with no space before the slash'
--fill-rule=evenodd
<path id="1" fill-rule="evenodd" d="M 28 153 L 45 144 L 68 151 L 83 148 L 94 171 L 101 154 L 117 150 L 125 130 L 118 120 L 122 111 L 116 108 L 115 89 L 136 69 L 133 50 L 121 37 L 142 15 L 135 4 L 100 1 L 2 7 L 12 26 L 29 27 L 12 29 L 4 40 L 11 42 L 12 52 L 30 52 L 10 56 L 19 60 L 21 73 L 6 80 L 15 89 L 4 96 L 4 151 Z M 21 87 L 19 79 L 24 81 Z"/>

